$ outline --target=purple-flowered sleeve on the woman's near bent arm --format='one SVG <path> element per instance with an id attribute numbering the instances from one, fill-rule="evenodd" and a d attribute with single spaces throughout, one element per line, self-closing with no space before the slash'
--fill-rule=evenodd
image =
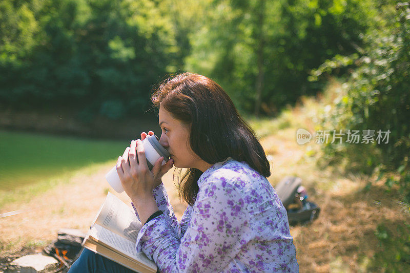
<path id="1" fill-rule="evenodd" d="M 201 187 L 180 240 L 160 215 L 139 231 L 137 251 L 152 257 L 161 272 L 220 272 L 240 250 L 248 229 L 243 204 L 233 186 L 213 180 Z"/>

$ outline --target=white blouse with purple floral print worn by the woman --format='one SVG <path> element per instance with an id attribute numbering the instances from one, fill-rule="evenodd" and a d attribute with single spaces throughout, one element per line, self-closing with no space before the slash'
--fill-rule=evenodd
<path id="1" fill-rule="evenodd" d="M 142 226 L 136 250 L 161 272 L 298 272 L 286 210 L 265 177 L 229 159 L 198 186 L 180 222 L 163 184 L 154 189 L 163 214 Z"/>

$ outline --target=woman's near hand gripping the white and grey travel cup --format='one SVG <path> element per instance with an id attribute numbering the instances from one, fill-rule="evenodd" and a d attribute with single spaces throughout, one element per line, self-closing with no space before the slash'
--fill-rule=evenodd
<path id="1" fill-rule="evenodd" d="M 153 132 L 148 134 L 153 135 Z M 141 139 L 147 137 L 141 134 Z M 117 173 L 127 195 L 133 199 L 144 199 L 152 196 L 152 190 L 161 183 L 161 177 L 172 168 L 172 159 L 161 166 L 163 157 L 158 158 L 151 172 L 148 169 L 142 140 L 133 140 L 117 160 Z"/>

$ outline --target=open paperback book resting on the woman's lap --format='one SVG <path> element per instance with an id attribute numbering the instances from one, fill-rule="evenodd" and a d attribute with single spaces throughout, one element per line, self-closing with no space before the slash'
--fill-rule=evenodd
<path id="1" fill-rule="evenodd" d="M 141 273 L 156 272 L 155 263 L 144 253 L 136 251 L 137 235 L 141 227 L 134 209 L 109 192 L 83 245 L 132 270 Z"/>

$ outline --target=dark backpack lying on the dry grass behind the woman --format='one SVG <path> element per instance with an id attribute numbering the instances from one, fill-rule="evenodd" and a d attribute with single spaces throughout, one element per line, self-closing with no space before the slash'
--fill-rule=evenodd
<path id="1" fill-rule="evenodd" d="M 319 216 L 320 207 L 308 201 L 302 179 L 288 176 L 275 187 L 275 191 L 288 213 L 289 224 L 308 223 Z"/>

